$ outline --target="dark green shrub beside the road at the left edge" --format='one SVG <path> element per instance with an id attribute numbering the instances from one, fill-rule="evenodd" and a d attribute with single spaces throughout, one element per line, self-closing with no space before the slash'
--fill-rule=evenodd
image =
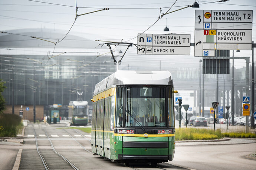
<path id="1" fill-rule="evenodd" d="M 0 114 L 0 137 L 15 137 L 21 126 L 20 116 Z"/>

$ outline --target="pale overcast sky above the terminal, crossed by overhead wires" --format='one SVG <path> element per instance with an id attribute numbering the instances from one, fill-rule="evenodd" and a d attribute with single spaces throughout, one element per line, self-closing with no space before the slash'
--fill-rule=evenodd
<path id="1" fill-rule="evenodd" d="M 0 31 L 52 30 L 54 33 L 62 33 L 62 37 L 58 37 L 62 39 L 63 35 L 70 30 L 68 35 L 80 36 L 93 41 L 101 40 L 101 43 L 122 41 L 137 44 L 138 33 L 164 34 L 167 32 L 163 29 L 167 26 L 170 29 L 168 33 L 190 34 L 190 41 L 194 43 L 195 10 L 253 10 L 252 40 L 256 42 L 256 1 L 229 0 L 214 3 L 216 1 L 198 1 L 200 8 L 189 7 L 161 17 L 161 14 L 167 11 L 178 10 L 193 4 L 194 0 L 1 0 Z M 108 10 L 81 15 L 75 19 L 76 6 L 78 15 L 106 8 Z M 2 35 L 3 33 L 0 33 L 0 36 Z M 47 51 L 48 49 L 45 53 Z M 1 50 L 0 53 L 4 51 Z M 129 53 L 137 54 L 136 48 L 129 49 Z M 251 50 L 241 50 L 240 53 L 234 54 L 239 57 L 251 55 Z M 146 57 L 140 55 L 139 57 L 173 59 L 173 56 L 159 55 L 147 55 Z M 199 61 L 201 57 L 194 57 L 194 48 L 191 47 L 190 56 L 184 56 L 183 59 Z M 235 67 L 243 66 L 245 62 L 235 61 Z"/>

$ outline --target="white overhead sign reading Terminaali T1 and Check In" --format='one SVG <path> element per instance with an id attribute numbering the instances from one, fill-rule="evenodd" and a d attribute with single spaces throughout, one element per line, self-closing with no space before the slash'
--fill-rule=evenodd
<path id="1" fill-rule="evenodd" d="M 138 34 L 137 54 L 190 55 L 190 35 Z"/>

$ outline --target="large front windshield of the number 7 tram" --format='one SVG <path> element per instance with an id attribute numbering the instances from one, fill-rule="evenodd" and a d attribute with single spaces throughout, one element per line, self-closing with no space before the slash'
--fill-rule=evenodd
<path id="1" fill-rule="evenodd" d="M 171 98 L 167 97 L 170 93 L 166 87 L 128 87 L 125 93 L 125 127 L 165 127 L 167 117 L 173 119 L 173 116 L 166 115 L 170 110 L 166 111 L 166 105 L 170 106 L 166 100 Z"/>

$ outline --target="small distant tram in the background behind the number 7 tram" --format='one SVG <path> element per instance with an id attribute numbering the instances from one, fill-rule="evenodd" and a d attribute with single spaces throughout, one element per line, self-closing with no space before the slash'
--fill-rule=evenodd
<path id="1" fill-rule="evenodd" d="M 88 124 L 88 101 L 70 101 L 68 116 L 73 125 Z"/>

